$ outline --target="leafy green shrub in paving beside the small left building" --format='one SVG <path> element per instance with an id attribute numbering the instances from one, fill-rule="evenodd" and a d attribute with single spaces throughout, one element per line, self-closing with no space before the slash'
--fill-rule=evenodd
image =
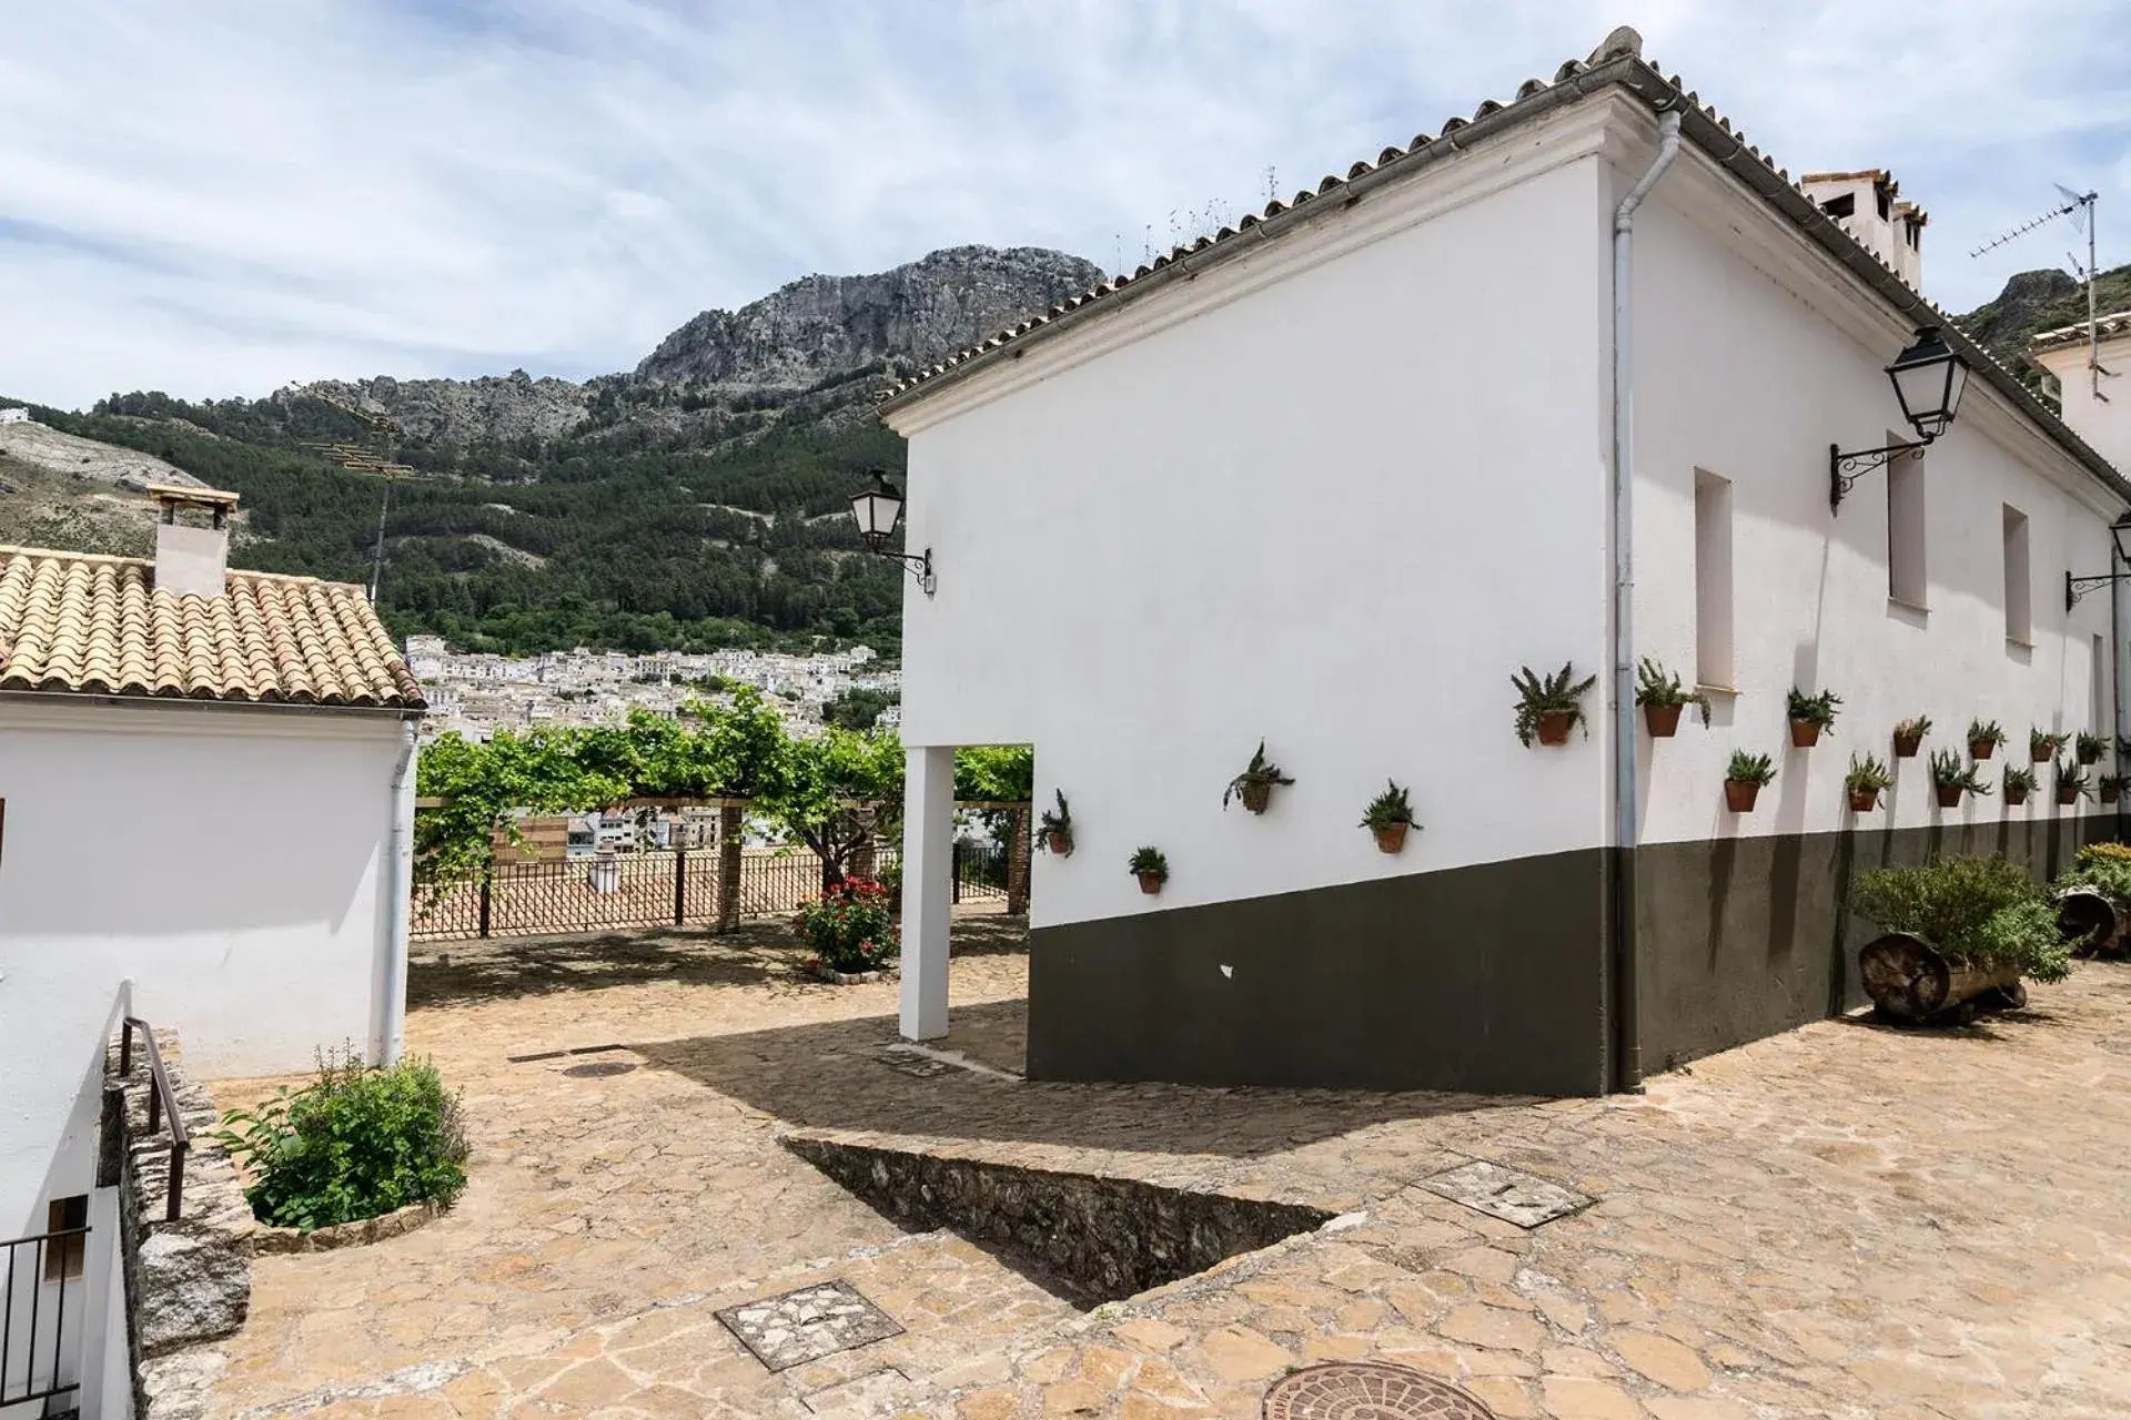
<path id="1" fill-rule="evenodd" d="M 318 1079 L 258 1109 L 230 1109 L 215 1139 L 256 1177 L 254 1216 L 277 1228 L 330 1228 L 467 1188 L 458 1094 L 409 1056 L 371 1069 L 347 1047 L 320 1052 Z"/>

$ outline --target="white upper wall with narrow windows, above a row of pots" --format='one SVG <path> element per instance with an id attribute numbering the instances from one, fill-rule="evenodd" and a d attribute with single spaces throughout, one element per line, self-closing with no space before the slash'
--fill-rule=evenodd
<path id="1" fill-rule="evenodd" d="M 1741 234 L 1741 230 L 1745 234 Z M 1888 473 L 1867 475 L 1828 511 L 1828 445 L 1869 449 L 1909 436 L 1884 366 L 1912 328 L 1856 296 L 1803 238 L 1728 194 L 1692 149 L 1637 226 L 1637 649 L 1692 679 L 1696 664 L 1694 475 L 1733 481 L 1735 686 L 1709 728 L 1690 711 L 1679 737 L 1643 739 L 1643 841 L 1848 828 L 1852 754 L 1897 769 L 1873 826 L 1997 822 L 2003 796 L 1935 807 L 1929 754 L 1967 754 L 1971 717 L 2010 743 L 1990 760 L 2027 764 L 2029 726 L 2112 728 L 2093 720 L 2093 637 L 2110 639 L 2110 596 L 2065 613 L 2067 564 L 2108 568 L 2116 511 L 2078 464 L 1982 381 L 1924 456 L 1929 611 L 1888 596 Z M 2033 647 L 2007 643 L 2001 509 L 2029 517 Z M 1790 686 L 1843 696 L 1833 737 L 1790 749 Z M 1924 754 L 1892 758 L 1894 722 L 1931 715 Z M 1724 809 L 1735 747 L 1775 758 L 1758 809 Z M 2041 769 L 2041 766 L 2037 766 Z M 2014 815 L 2050 815 L 2048 773 Z M 2082 813 L 2099 811 L 2086 803 Z M 2069 813 L 2063 811 L 2063 813 Z"/>

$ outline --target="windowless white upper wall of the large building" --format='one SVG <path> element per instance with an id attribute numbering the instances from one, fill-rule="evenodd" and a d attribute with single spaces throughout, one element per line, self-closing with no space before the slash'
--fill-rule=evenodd
<path id="1" fill-rule="evenodd" d="M 1594 143 L 1451 160 L 891 415 L 940 575 L 904 739 L 1036 745 L 1078 835 L 1038 926 L 1600 841 L 1603 726 L 1524 749 L 1509 686 L 1605 656 Z M 1298 783 L 1223 813 L 1262 737 Z M 1385 777 L 1400 858 L 1357 826 Z"/>

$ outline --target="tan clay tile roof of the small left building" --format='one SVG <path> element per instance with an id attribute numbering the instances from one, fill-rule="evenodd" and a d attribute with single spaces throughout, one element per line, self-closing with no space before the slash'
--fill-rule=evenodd
<path id="1" fill-rule="evenodd" d="M 230 573 L 156 590 L 141 558 L 0 547 L 0 690 L 422 709 L 362 588 Z"/>

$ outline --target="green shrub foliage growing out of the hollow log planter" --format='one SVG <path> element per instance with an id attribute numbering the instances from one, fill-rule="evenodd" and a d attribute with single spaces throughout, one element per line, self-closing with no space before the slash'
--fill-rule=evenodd
<path id="1" fill-rule="evenodd" d="M 2071 969 L 2041 888 L 2005 858 L 1877 869 L 1858 879 L 1850 907 L 1890 932 L 1922 937 L 1958 962 L 2016 967 L 2037 981 L 2061 981 Z"/>

